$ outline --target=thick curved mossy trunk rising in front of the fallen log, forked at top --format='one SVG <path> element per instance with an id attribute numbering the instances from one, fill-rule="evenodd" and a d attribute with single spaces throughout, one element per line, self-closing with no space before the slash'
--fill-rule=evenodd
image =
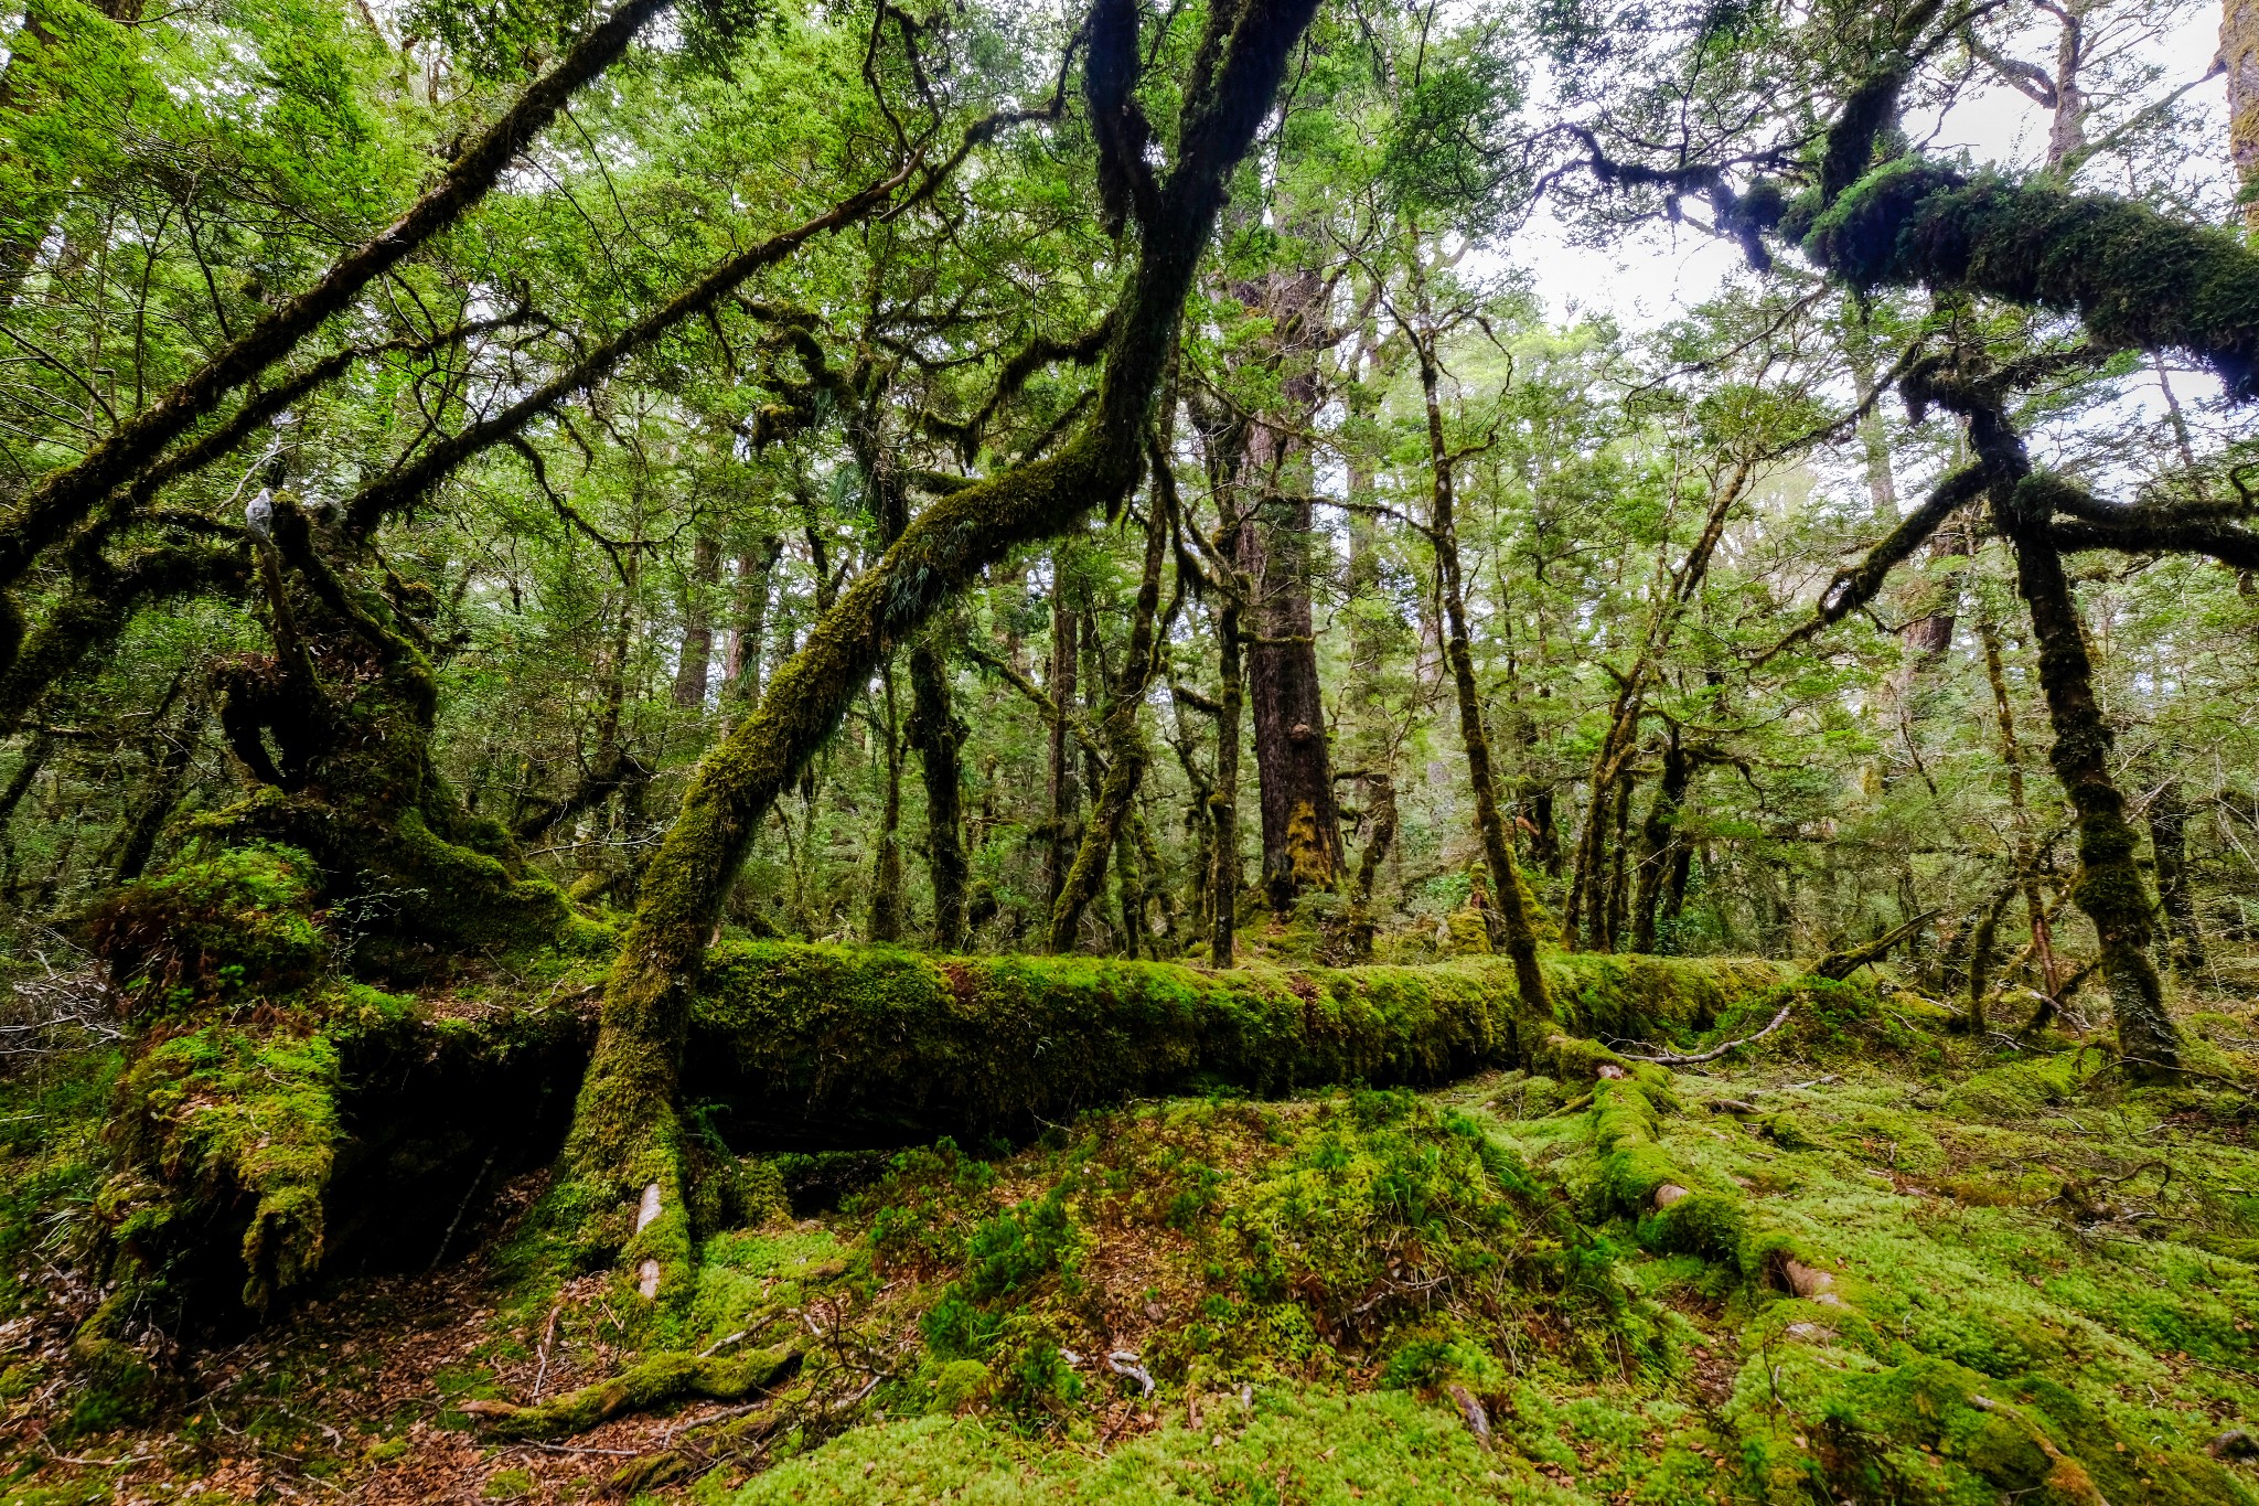
<path id="1" fill-rule="evenodd" d="M 644 874 L 605 984 L 596 1050 L 551 1210 L 587 1253 L 623 1253 L 639 1289 L 682 1292 L 691 1226 L 678 1115 L 682 1045 L 723 899 L 773 802 L 822 747 L 856 686 L 958 587 L 1139 481 L 1154 395 L 1224 187 L 1270 113 L 1315 0 L 1220 0 L 1184 72 L 1172 163 L 1154 174 L 1136 104 L 1139 11 L 1096 0 L 1084 99 L 1107 219 L 1136 224 L 1136 257 L 1109 321 L 1098 400 L 1055 454 L 928 504 L 777 671 L 761 709 L 698 765 Z M 642 1210 L 642 1212 L 639 1212 Z"/>

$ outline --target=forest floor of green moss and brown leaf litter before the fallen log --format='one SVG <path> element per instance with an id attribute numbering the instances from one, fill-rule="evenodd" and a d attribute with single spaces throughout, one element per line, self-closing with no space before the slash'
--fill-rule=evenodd
<path id="1" fill-rule="evenodd" d="M 942 1142 L 714 1235 L 660 1321 L 499 1240 L 178 1355 L 138 1427 L 72 1377 L 50 1237 L 95 1054 L 0 1084 L 0 1506 L 2259 1501 L 2259 1102 L 2227 1082 L 2259 1012 L 2191 1002 L 2214 1077 L 2182 1086 L 1889 1014 L 1669 1075 Z M 465 1411 L 779 1343 L 750 1402 L 529 1443 Z"/>

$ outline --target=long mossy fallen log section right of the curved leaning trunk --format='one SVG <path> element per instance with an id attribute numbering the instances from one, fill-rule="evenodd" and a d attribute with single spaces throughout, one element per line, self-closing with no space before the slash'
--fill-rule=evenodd
<path id="1" fill-rule="evenodd" d="M 1514 964 L 1202 971 L 1093 957 L 732 944 L 691 1016 L 684 1095 L 739 1149 L 1017 1131 L 1130 1097 L 1326 1084 L 1434 1086 L 1527 1066 L 1547 1036 L 1674 1039 L 1791 969 L 1570 953 L 1554 1012 Z"/>

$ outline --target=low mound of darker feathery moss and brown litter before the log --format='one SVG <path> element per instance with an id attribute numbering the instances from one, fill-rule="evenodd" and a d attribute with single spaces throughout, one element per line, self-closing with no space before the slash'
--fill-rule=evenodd
<path id="1" fill-rule="evenodd" d="M 1410 1093 L 1125 1111 L 1003 1172 L 942 1145 L 856 1210 L 886 1289 L 931 1294 L 928 1361 L 980 1361 L 1023 1418 L 1111 1402 L 1075 1355 L 1130 1350 L 1186 1389 L 1385 1375 L 1495 1393 L 1541 1312 L 1624 1332 L 1606 1255 L 1471 1120 Z M 1645 1346 L 1633 1328 L 1624 1352 Z"/>

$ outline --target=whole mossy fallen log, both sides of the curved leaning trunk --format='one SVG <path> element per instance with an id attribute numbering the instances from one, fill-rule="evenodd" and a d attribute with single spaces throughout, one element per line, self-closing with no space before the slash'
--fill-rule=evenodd
<path id="1" fill-rule="evenodd" d="M 1683 1041 L 1791 973 L 1545 966 L 1554 1007 L 1536 1018 L 1502 957 L 1200 971 L 723 944 L 684 1097 L 734 1154 L 1017 1138 L 1134 1097 L 1434 1086 L 1529 1063 L 1559 1036 Z M 120 1079 L 127 1133 L 97 1244 L 120 1278 L 194 1296 L 208 1323 L 323 1271 L 468 1251 L 501 1183 L 556 1158 L 592 1041 L 590 996 L 465 1009 L 352 984 L 151 1021 Z M 278 1140 L 276 1122 L 296 1129 Z M 212 1301 L 235 1289 L 239 1303 Z"/>

